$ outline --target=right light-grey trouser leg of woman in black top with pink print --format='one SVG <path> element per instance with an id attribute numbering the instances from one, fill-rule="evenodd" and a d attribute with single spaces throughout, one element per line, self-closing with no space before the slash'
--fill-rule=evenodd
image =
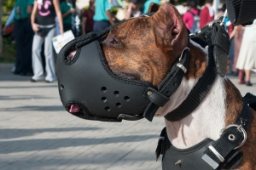
<path id="1" fill-rule="evenodd" d="M 45 81 L 54 82 L 55 81 L 55 55 L 54 48 L 52 45 L 52 37 L 55 35 L 55 28 L 51 29 L 44 41 L 44 55 L 45 55 L 45 71 L 46 77 Z"/>

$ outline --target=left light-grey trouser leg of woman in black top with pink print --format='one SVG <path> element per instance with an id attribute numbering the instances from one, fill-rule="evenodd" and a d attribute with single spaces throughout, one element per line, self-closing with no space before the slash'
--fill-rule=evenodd
<path id="1" fill-rule="evenodd" d="M 44 37 L 40 37 L 37 34 L 33 37 L 32 43 L 32 69 L 34 76 L 32 80 L 44 80 L 44 69 L 41 58 L 41 47 L 44 42 Z"/>

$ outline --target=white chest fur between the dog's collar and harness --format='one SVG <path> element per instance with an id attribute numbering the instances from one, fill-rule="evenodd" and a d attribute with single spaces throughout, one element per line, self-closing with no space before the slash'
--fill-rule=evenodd
<path id="1" fill-rule="evenodd" d="M 183 84 L 188 84 L 188 82 Z M 207 138 L 218 139 L 219 132 L 225 125 L 224 89 L 224 78 L 218 77 L 206 99 L 193 113 L 177 122 L 166 121 L 168 137 L 175 147 L 185 149 Z M 180 102 L 177 101 L 177 103 Z M 173 104 L 172 106 L 176 107 Z"/>

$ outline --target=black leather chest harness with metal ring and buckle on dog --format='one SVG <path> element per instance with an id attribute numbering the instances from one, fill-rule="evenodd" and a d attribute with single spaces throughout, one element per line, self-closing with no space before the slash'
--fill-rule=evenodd
<path id="1" fill-rule="evenodd" d="M 248 106 L 249 105 L 249 106 Z M 240 163 L 243 156 L 238 150 L 247 140 L 247 128 L 251 122 L 250 107 L 256 111 L 256 96 L 247 93 L 243 97 L 243 106 L 234 124 L 224 127 L 217 140 L 205 139 L 189 149 L 175 148 L 169 141 L 166 127 L 160 133 L 155 151 L 156 160 L 163 155 L 165 170 L 212 170 L 233 169 Z"/>

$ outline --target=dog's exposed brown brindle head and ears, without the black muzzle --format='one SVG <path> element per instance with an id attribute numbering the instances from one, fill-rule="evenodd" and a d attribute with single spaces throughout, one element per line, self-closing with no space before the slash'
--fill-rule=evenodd
<path id="1" fill-rule="evenodd" d="M 158 86 L 188 44 L 188 32 L 172 5 L 152 3 L 148 12 L 155 14 L 114 27 L 102 48 L 113 73 Z"/>

